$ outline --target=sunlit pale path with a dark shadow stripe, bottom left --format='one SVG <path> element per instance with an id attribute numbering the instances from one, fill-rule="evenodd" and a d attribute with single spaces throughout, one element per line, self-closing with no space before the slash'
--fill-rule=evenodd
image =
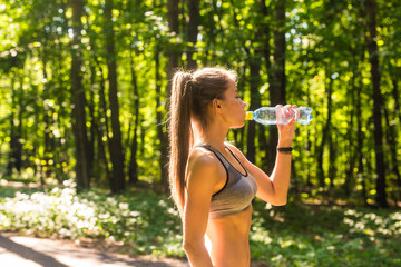
<path id="1" fill-rule="evenodd" d="M 52 240 L 0 233 L 1 267 L 188 267 L 186 260 L 131 258 L 84 248 L 70 240 Z"/>

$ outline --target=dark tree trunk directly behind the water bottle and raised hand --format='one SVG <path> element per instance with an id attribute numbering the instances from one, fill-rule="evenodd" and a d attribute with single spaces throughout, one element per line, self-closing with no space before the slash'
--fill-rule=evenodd
<path id="1" fill-rule="evenodd" d="M 285 0 L 275 0 L 275 29 L 274 29 L 274 61 L 270 69 L 270 98 L 271 106 L 285 103 Z M 267 60 L 267 59 L 266 59 Z M 268 60 L 267 60 L 268 61 Z M 276 127 L 270 127 L 268 135 L 268 168 L 272 172 L 275 162 L 278 132 Z"/>

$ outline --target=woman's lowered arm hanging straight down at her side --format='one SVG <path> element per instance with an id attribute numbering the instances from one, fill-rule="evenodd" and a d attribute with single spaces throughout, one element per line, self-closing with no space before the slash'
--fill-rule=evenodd
<path id="1" fill-rule="evenodd" d="M 190 266 L 213 266 L 205 247 L 205 233 L 217 174 L 216 160 L 207 154 L 192 157 L 188 161 L 183 228 L 184 249 Z"/>

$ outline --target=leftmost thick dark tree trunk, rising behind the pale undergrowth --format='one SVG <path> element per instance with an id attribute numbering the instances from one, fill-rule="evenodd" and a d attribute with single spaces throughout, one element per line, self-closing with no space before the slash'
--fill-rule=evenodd
<path id="1" fill-rule="evenodd" d="M 86 128 L 86 97 L 85 90 L 82 87 L 82 77 L 81 77 L 81 65 L 82 65 L 82 55 L 80 50 L 81 43 L 81 29 L 82 29 L 82 10 L 84 2 L 81 0 L 71 0 L 72 8 L 72 65 L 71 65 L 71 93 L 72 93 L 72 131 L 75 137 L 76 145 L 76 179 L 77 179 L 77 189 L 81 190 L 89 188 L 89 162 L 88 162 L 88 151 L 89 142 L 87 137 Z"/>

